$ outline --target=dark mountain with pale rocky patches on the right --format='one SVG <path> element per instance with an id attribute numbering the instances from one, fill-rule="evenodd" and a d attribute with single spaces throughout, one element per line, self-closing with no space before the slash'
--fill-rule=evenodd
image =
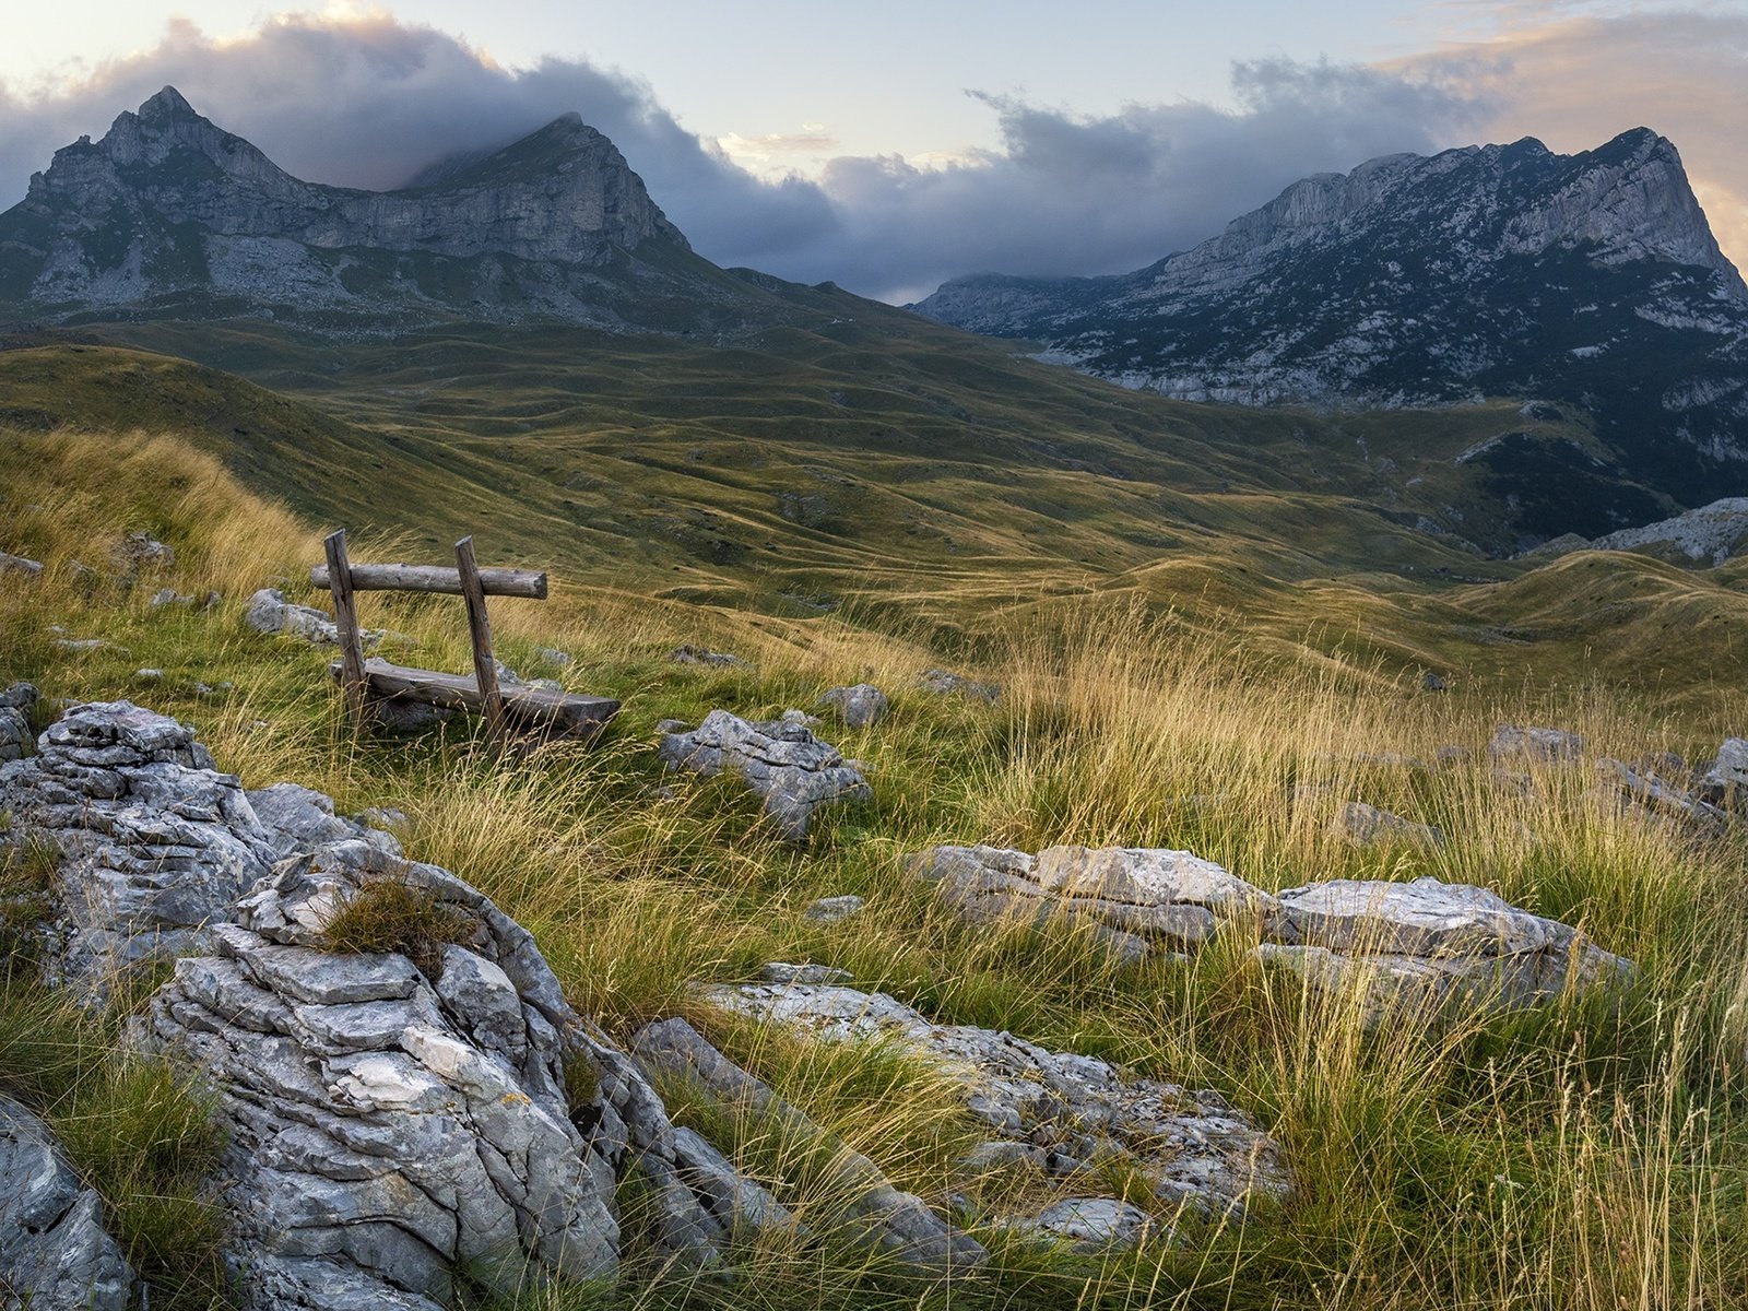
<path id="1" fill-rule="evenodd" d="M 1521 437 L 1474 458 L 1549 479 L 1608 465 L 1683 505 L 1748 493 L 1748 287 L 1643 128 L 1577 156 L 1530 138 L 1384 156 L 1136 273 L 960 278 L 914 309 L 1185 400 L 1564 402 L 1606 451 Z M 1580 502 L 1533 528 L 1596 535 L 1638 512 Z"/>

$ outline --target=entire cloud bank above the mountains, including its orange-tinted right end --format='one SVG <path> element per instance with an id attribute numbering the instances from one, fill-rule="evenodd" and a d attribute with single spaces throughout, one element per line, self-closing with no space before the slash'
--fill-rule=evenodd
<path id="1" fill-rule="evenodd" d="M 682 128 L 656 91 L 582 59 L 505 68 L 381 10 L 267 21 L 215 40 L 185 21 L 150 51 L 24 100 L 0 87 L 0 205 L 80 133 L 175 84 L 203 114 L 318 182 L 392 187 L 435 159 L 505 145 L 575 110 L 607 133 L 694 246 L 801 281 L 916 299 L 946 278 L 1141 267 L 1218 232 L 1294 180 L 1395 150 L 1536 135 L 1561 150 L 1647 122 L 1683 150 L 1727 248 L 1748 252 L 1748 17 L 1495 7 L 1503 35 L 1390 66 L 1259 59 L 1232 103 L 1084 115 L 974 93 L 998 145 L 928 161 L 827 159 L 830 133 L 755 138 L 750 171 Z"/>

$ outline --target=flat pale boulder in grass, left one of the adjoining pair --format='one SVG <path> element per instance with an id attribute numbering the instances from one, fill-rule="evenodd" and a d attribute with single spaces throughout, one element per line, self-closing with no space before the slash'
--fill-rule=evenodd
<path id="1" fill-rule="evenodd" d="M 935 846 L 914 874 L 974 923 L 1084 923 L 1124 963 L 1197 947 L 1222 919 L 1273 923 L 1274 898 L 1211 860 L 1164 848 Z"/>

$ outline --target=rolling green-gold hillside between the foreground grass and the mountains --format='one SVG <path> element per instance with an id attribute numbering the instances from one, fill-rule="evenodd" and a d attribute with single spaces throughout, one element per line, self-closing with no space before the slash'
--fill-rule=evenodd
<path id="1" fill-rule="evenodd" d="M 447 559 L 477 533 L 489 559 L 685 603 L 694 624 L 836 614 L 977 656 L 1014 615 L 1099 598 L 1290 664 L 1342 656 L 1488 689 L 1606 680 L 1652 708 L 1739 717 L 1741 566 L 1503 561 L 1416 526 L 1454 514 L 1509 545 L 1493 474 L 1460 456 L 1507 432 L 1578 449 L 1591 437 L 1571 418 L 1187 406 L 790 294 L 811 327 L 725 344 L 105 329 L 198 365 L 37 337 L 0 350 L 0 420 L 175 432 L 316 523 L 392 533 L 399 554 Z"/>

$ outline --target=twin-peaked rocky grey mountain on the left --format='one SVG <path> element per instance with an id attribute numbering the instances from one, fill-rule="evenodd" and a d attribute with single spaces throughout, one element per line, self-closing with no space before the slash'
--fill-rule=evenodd
<path id="1" fill-rule="evenodd" d="M 421 185 L 294 178 L 164 87 L 0 215 L 0 304 L 30 318 L 463 316 L 710 330 L 750 288 L 692 253 L 601 133 L 566 114 Z"/>

